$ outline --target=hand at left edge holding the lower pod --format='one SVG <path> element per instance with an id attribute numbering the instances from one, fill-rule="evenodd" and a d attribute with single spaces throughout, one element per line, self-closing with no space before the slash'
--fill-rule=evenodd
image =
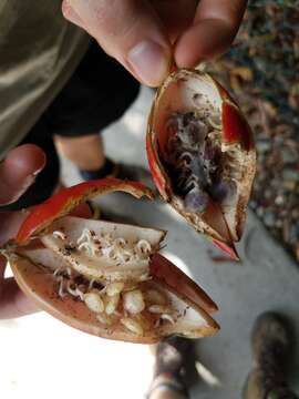
<path id="1" fill-rule="evenodd" d="M 10 151 L 0 163 L 0 206 L 17 201 L 34 182 L 45 164 L 45 155 L 38 146 L 24 144 Z M 1 211 L 0 246 L 12 238 L 21 222 L 23 212 Z M 7 260 L 0 256 L 0 318 L 12 318 L 37 311 L 35 306 L 18 287 L 14 278 L 4 278 Z"/>

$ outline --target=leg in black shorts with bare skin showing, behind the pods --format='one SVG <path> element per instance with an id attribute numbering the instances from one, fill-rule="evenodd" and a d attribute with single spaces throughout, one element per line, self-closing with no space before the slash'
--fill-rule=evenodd
<path id="1" fill-rule="evenodd" d="M 138 82 L 92 41 L 74 74 L 47 110 L 59 152 L 86 172 L 81 173 L 83 178 L 104 177 L 103 167 L 106 175 L 112 174 L 113 165 L 105 157 L 99 132 L 123 115 L 138 89 Z"/>

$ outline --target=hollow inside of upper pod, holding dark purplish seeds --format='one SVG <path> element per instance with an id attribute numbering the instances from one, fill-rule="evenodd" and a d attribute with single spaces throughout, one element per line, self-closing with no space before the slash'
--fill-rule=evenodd
<path id="1" fill-rule="evenodd" d="M 187 213 L 204 214 L 210 200 L 224 212 L 236 202 L 238 145 L 224 144 L 221 129 L 221 98 L 208 76 L 178 75 L 161 92 L 154 113 L 159 158 Z"/>

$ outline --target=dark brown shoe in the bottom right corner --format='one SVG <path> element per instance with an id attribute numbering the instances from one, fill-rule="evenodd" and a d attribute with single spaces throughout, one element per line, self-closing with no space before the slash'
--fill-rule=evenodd
<path id="1" fill-rule="evenodd" d="M 250 371 L 244 399 L 298 398 L 286 383 L 291 350 L 287 321 L 275 313 L 265 313 L 255 323 L 251 335 L 254 368 Z"/>

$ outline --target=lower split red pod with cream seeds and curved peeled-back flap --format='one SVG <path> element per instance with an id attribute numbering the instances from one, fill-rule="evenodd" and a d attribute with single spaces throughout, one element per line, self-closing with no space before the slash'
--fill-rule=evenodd
<path id="1" fill-rule="evenodd" d="M 58 319 L 104 338 L 150 344 L 215 334 L 215 303 L 158 254 L 164 231 L 70 215 L 114 191 L 152 198 L 140 183 L 106 178 L 65 188 L 28 215 L 3 249 L 21 289 Z"/>

